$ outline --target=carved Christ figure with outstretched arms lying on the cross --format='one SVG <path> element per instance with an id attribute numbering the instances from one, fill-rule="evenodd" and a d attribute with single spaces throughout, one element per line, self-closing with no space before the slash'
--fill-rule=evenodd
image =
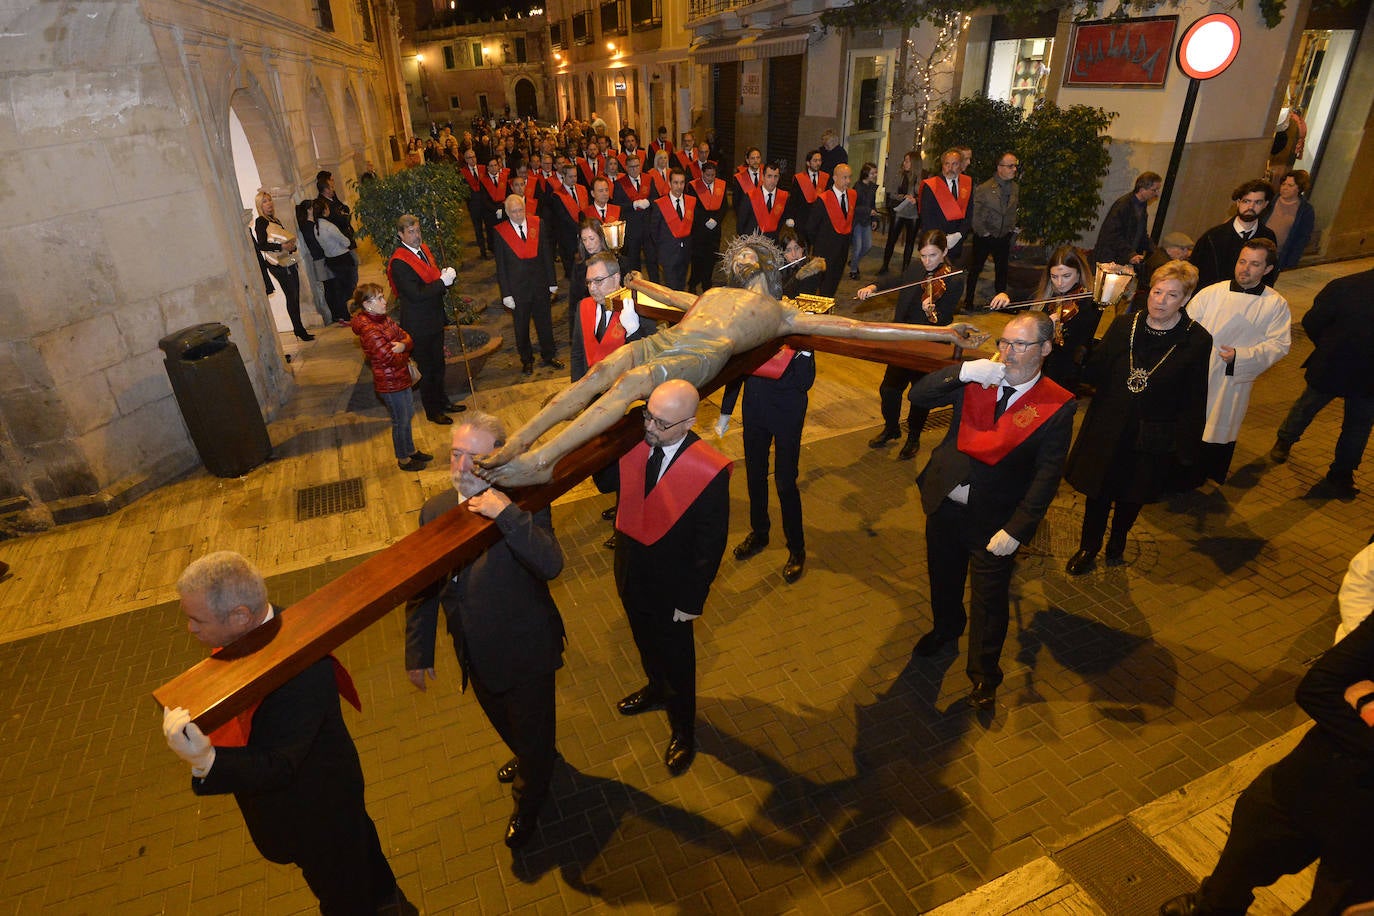
<path id="1" fill-rule="evenodd" d="M 599 361 L 511 434 L 504 446 L 478 459 L 477 472 L 499 486 L 547 483 L 559 459 L 609 430 L 636 401 L 646 400 L 668 379 L 684 379 L 699 389 L 736 353 L 775 338 L 811 334 L 894 343 L 932 341 L 967 349 L 988 339 L 971 324 L 930 327 L 857 321 L 786 305 L 779 301 L 776 266 L 783 258 L 776 244 L 764 236 L 736 239 L 725 258 L 731 286 L 712 287 L 699 297 L 651 283 L 638 272 L 629 273 L 628 288 L 683 309 L 682 321 L 627 343 Z M 627 302 L 624 308 L 633 306 Z M 533 448 L 563 420 L 572 422 L 548 442 Z"/>

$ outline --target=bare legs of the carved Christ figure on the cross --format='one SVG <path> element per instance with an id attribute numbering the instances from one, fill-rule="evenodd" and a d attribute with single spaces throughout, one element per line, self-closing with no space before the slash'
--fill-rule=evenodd
<path id="1" fill-rule="evenodd" d="M 497 486 L 547 483 L 561 457 L 609 430 L 625 416 L 631 404 L 649 397 L 654 383 L 640 386 L 640 378 L 649 378 L 647 367 L 635 368 L 633 345 L 627 343 L 559 391 L 525 426 L 515 430 L 506 445 L 477 459 L 477 475 Z M 602 391 L 605 396 L 598 398 Z M 532 450 L 539 437 L 563 420 L 572 423 L 545 445 Z"/>

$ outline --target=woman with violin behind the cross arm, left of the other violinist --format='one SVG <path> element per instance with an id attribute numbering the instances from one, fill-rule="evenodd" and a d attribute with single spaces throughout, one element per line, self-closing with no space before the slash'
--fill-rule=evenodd
<path id="1" fill-rule="evenodd" d="M 955 309 L 963 297 L 963 275 L 948 276 L 954 271 L 945 258 L 949 242 L 940 229 L 926 229 L 916 239 L 916 244 L 921 261 L 912 264 L 900 280 L 892 280 L 883 286 L 870 283 L 856 295 L 860 299 L 867 299 L 875 293 L 905 283 L 930 280 L 930 283 L 921 283 L 921 286 L 911 286 L 901 291 L 892 320 L 901 324 L 949 324 L 954 321 Z M 901 396 L 925 372 L 903 369 L 896 365 L 888 367 L 882 383 L 878 386 L 878 397 L 882 402 L 882 431 L 868 442 L 868 448 L 878 449 L 901 437 Z M 927 413 L 929 411 L 921 411 L 915 407 L 908 411 L 907 444 L 897 452 L 899 459 L 910 460 L 916 456 L 921 449 L 921 428 L 926 424 Z"/>

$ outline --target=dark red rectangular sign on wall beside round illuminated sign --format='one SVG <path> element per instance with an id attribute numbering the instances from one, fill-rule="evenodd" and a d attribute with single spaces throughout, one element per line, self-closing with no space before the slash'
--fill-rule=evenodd
<path id="1" fill-rule="evenodd" d="M 1076 22 L 1063 85 L 1162 88 L 1178 27 L 1178 16 Z"/>

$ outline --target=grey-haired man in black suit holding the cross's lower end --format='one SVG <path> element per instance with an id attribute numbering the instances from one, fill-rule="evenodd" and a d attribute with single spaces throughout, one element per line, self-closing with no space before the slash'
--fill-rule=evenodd
<path id="1" fill-rule="evenodd" d="M 210 647 L 282 612 L 261 573 L 229 551 L 191 563 L 177 593 L 191 636 Z M 322 913 L 415 913 L 367 814 L 339 694 L 357 705 L 348 672 L 326 656 L 210 735 L 181 707 L 164 711 L 162 733 L 191 765 L 191 791 L 232 792 L 253 845 L 271 862 L 297 865 Z"/>

